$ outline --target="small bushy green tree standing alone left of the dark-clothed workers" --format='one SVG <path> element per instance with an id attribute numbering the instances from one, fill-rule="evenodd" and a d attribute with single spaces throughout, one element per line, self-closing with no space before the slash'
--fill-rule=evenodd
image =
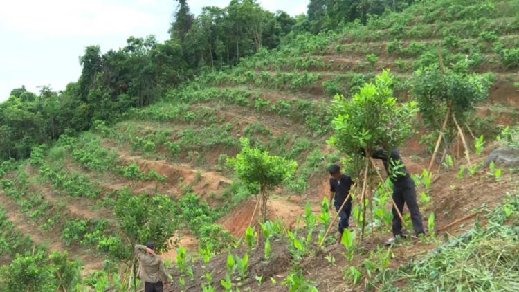
<path id="1" fill-rule="evenodd" d="M 295 174 L 298 163 L 271 156 L 268 151 L 251 148 L 248 138 L 240 138 L 242 151 L 235 158 L 228 158 L 227 163 L 235 170 L 252 194 L 260 194 L 262 222 L 266 221 L 266 203 L 275 188 Z"/>

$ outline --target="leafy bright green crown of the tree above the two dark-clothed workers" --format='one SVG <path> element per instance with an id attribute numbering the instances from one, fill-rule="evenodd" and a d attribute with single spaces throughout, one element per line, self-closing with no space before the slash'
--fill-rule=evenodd
<path id="1" fill-rule="evenodd" d="M 401 145 L 412 134 L 418 109 L 415 102 L 397 104 L 391 86 L 390 71 L 385 70 L 351 100 L 336 95 L 331 104 L 334 136 L 327 143 L 349 156 L 358 156 L 361 147 L 370 151 L 382 144 Z"/>

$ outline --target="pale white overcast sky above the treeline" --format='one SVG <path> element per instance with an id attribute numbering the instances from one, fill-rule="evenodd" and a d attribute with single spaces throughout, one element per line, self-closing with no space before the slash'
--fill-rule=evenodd
<path id="1" fill-rule="evenodd" d="M 263 8 L 298 15 L 308 0 L 260 0 Z M 2 0 L 0 9 L 0 102 L 12 89 L 25 85 L 55 91 L 78 80 L 78 57 L 84 48 L 101 51 L 125 46 L 126 39 L 156 35 L 169 37 L 173 0 Z M 230 0 L 188 0 L 198 15 L 203 6 L 226 7 Z"/>

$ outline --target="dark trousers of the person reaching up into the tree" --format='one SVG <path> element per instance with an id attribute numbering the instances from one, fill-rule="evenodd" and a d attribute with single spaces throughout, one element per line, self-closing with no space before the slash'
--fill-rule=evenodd
<path id="1" fill-rule="evenodd" d="M 417 203 L 417 191 L 415 188 L 415 181 L 410 177 L 403 179 L 393 184 L 393 200 L 399 208 L 400 214 L 403 216 L 403 204 L 408 206 L 412 227 L 415 228 L 417 235 L 424 233 L 424 224 L 421 221 L 420 209 Z M 393 235 L 402 235 L 402 221 L 397 213 L 397 210 L 392 209 L 393 213 Z"/>

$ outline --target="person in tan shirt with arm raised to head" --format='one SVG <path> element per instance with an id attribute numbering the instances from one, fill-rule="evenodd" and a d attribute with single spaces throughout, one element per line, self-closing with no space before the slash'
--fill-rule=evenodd
<path id="1" fill-rule="evenodd" d="M 164 283 L 167 285 L 166 289 L 170 289 L 162 257 L 156 255 L 154 249 L 153 242 L 148 242 L 145 246 L 136 244 L 134 249 L 140 261 L 137 276 L 144 282 L 145 292 L 163 292 Z"/>

